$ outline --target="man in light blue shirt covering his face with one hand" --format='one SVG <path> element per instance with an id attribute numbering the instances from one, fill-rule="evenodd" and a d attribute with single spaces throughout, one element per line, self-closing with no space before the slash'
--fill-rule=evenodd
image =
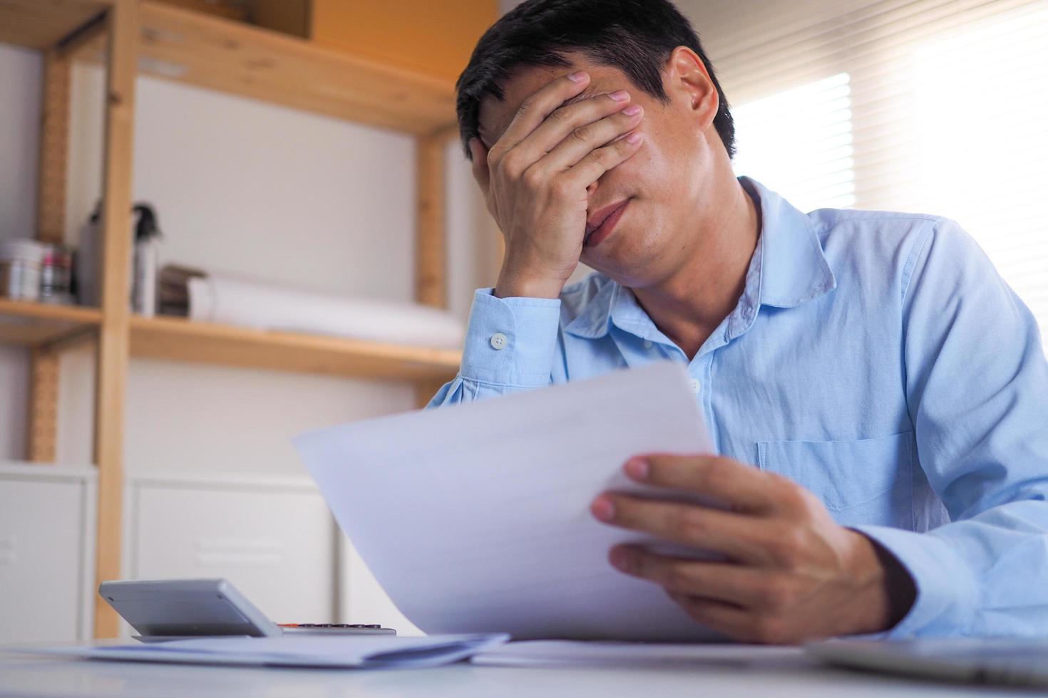
<path id="1" fill-rule="evenodd" d="M 736 179 L 668 0 L 525 2 L 458 113 L 506 252 L 431 404 L 678 361 L 721 454 L 624 467 L 728 511 L 604 493 L 592 514 L 724 560 L 611 564 L 742 640 L 1048 633 L 1048 365 L 955 223 L 805 215 Z M 597 273 L 564 288 L 580 261 Z"/>

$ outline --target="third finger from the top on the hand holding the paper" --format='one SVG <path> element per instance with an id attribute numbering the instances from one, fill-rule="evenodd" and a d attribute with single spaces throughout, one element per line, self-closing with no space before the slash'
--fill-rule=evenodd
<path id="1" fill-rule="evenodd" d="M 769 596 L 769 575 L 754 567 L 673 558 L 637 545 L 613 547 L 609 560 L 615 569 L 654 582 L 674 593 L 713 599 L 742 608 L 764 608 Z"/>

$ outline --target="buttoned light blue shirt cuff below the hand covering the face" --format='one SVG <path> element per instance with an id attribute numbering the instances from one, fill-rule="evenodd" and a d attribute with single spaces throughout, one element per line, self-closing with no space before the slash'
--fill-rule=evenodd
<path id="1" fill-rule="evenodd" d="M 459 375 L 500 385 L 548 385 L 560 298 L 497 298 L 493 291 L 474 294 Z"/>

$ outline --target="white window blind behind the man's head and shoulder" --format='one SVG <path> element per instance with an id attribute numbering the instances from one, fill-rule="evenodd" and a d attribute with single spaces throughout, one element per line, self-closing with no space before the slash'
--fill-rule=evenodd
<path id="1" fill-rule="evenodd" d="M 1048 330 L 1048 0 L 681 0 L 736 171 L 805 210 L 956 219 Z"/>

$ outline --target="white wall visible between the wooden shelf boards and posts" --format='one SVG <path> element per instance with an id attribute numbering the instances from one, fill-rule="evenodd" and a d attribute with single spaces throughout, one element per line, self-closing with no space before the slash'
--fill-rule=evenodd
<path id="1" fill-rule="evenodd" d="M 0 45 L 0 235 L 32 234 L 41 61 Z M 67 239 L 100 192 L 103 73 L 73 73 Z M 493 283 L 493 225 L 449 148 L 451 307 Z M 410 299 L 414 141 L 393 132 L 153 78 L 137 82 L 134 198 L 153 203 L 161 263 Z M 63 358 L 58 459 L 90 459 L 93 352 Z M 24 448 L 27 359 L 0 348 L 0 457 Z M 135 360 L 129 471 L 301 474 L 288 438 L 414 406 L 409 386 Z"/>

